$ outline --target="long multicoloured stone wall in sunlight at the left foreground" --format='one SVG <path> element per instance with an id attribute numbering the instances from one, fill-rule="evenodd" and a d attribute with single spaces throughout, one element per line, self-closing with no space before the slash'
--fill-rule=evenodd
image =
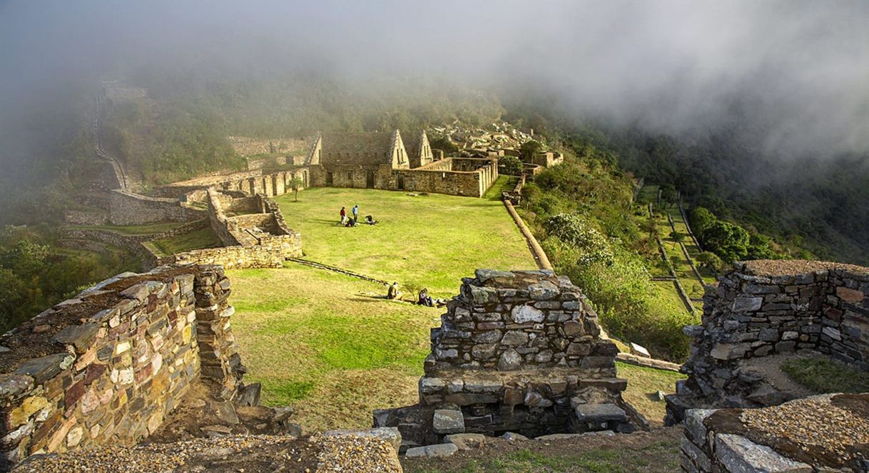
<path id="1" fill-rule="evenodd" d="M 241 358 L 219 266 L 123 273 L 0 337 L 0 469 L 34 453 L 133 444 L 197 378 L 231 397 Z"/>

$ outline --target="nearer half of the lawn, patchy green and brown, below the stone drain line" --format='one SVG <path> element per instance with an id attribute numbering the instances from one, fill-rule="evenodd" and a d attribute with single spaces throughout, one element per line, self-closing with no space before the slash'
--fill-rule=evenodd
<path id="1" fill-rule="evenodd" d="M 305 430 L 371 426 L 371 411 L 414 404 L 429 328 L 443 309 L 381 299 L 383 286 L 287 263 L 228 272 L 235 340 L 264 404 Z"/>

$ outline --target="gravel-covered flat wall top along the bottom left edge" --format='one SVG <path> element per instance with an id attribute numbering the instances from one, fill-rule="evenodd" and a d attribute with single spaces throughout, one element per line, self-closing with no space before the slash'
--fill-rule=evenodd
<path id="1" fill-rule="evenodd" d="M 106 446 L 31 458 L 15 471 L 399 472 L 392 446 L 372 437 L 226 436 L 136 447 Z"/>

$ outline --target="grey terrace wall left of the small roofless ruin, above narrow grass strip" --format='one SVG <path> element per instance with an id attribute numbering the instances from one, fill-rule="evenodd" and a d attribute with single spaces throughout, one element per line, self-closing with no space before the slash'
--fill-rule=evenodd
<path id="1" fill-rule="evenodd" d="M 146 197 L 118 189 L 109 195 L 109 220 L 115 225 L 199 220 L 205 216 L 202 210 L 184 207 L 175 199 Z"/>

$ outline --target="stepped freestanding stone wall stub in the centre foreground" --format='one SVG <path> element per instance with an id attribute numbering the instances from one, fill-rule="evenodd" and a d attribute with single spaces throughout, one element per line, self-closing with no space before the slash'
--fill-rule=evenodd
<path id="1" fill-rule="evenodd" d="M 477 270 L 432 329 L 420 404 L 375 411 L 375 427 L 398 427 L 405 446 L 460 432 L 633 431 L 645 420 L 621 399 L 617 351 L 569 279 Z"/>

